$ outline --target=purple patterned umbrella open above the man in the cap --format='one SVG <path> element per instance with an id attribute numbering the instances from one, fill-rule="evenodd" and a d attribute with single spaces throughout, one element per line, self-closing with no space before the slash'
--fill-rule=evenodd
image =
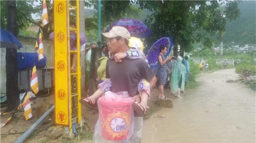
<path id="1" fill-rule="evenodd" d="M 121 19 L 115 23 L 112 23 L 105 32 L 111 30 L 113 26 L 122 26 L 126 28 L 129 32 L 131 37 L 143 38 L 147 37 L 151 34 L 150 29 L 144 25 L 143 22 L 134 19 Z"/>

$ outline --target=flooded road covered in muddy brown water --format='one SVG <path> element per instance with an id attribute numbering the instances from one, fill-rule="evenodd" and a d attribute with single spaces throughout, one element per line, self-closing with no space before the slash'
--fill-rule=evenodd
<path id="1" fill-rule="evenodd" d="M 255 143 L 255 92 L 234 69 L 203 74 L 201 85 L 143 123 L 142 143 Z"/>

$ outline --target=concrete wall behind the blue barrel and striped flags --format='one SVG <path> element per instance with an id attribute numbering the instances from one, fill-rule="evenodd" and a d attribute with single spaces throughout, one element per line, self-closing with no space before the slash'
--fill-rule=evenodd
<path id="1" fill-rule="evenodd" d="M 35 52 L 35 44 L 36 39 L 35 38 L 25 38 L 25 37 L 18 37 L 18 40 L 22 44 L 24 48 L 20 48 L 20 50 L 17 50 L 17 52 Z M 44 45 L 44 54 L 47 58 L 47 68 L 54 68 L 54 51 L 53 51 L 53 42 L 51 40 L 43 39 L 43 45 Z M 5 48 L 0 48 L 0 90 L 1 93 L 6 92 L 6 69 L 5 69 Z M 31 71 L 30 71 L 31 72 Z M 20 83 L 20 74 L 18 77 L 19 85 L 22 85 L 25 90 L 29 88 L 27 86 L 27 72 L 22 71 L 21 72 L 21 83 Z M 46 81 L 46 73 L 45 73 L 45 81 Z M 38 82 L 39 82 L 39 90 L 42 89 L 42 71 L 38 70 Z M 51 76 L 48 72 L 48 82 L 49 85 L 51 85 Z"/>

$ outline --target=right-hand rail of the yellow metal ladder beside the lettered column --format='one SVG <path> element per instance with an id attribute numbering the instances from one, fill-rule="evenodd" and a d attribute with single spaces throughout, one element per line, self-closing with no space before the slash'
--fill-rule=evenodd
<path id="1" fill-rule="evenodd" d="M 77 121 L 80 124 L 81 121 L 81 67 L 80 67 L 80 8 L 79 0 L 76 0 L 76 28 L 77 28 Z"/>

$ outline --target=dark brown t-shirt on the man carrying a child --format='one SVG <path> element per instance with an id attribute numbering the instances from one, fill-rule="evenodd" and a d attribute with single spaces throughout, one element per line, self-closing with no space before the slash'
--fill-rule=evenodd
<path id="1" fill-rule="evenodd" d="M 111 78 L 112 92 L 127 91 L 130 97 L 138 94 L 138 83 L 141 79 L 150 81 L 154 77 L 144 59 L 124 58 L 122 62 L 108 59 L 106 78 Z"/>

